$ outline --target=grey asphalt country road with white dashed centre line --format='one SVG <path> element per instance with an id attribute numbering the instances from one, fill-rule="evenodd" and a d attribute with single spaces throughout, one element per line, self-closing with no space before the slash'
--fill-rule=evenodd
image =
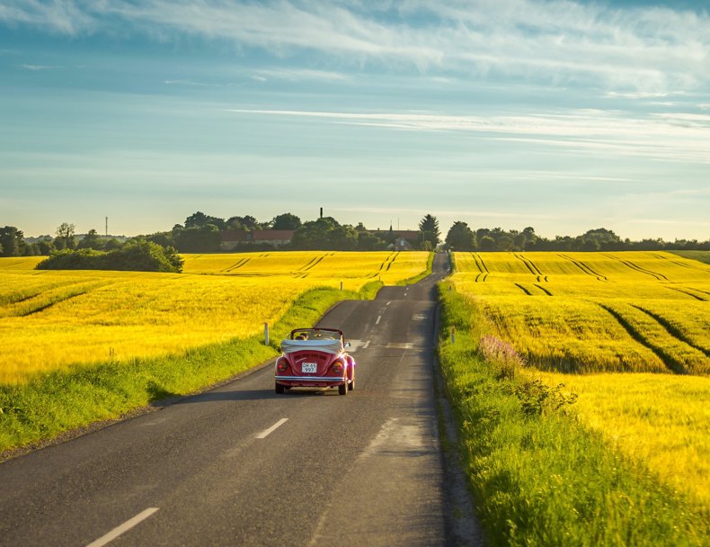
<path id="1" fill-rule="evenodd" d="M 321 321 L 356 389 L 276 395 L 266 366 L 217 390 L 0 464 L 0 545 L 453 545 L 439 447 L 433 283 Z"/>

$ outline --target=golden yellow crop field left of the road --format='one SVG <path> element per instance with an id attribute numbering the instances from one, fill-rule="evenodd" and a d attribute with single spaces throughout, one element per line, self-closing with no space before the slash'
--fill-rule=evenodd
<path id="1" fill-rule="evenodd" d="M 426 269 L 428 253 L 188 255 L 185 273 L 38 271 L 0 258 L 0 383 L 245 337 L 316 286 L 357 291 Z"/>

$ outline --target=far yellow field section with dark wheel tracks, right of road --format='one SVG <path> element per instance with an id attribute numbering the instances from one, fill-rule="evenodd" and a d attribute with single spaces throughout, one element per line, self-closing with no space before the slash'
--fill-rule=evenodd
<path id="1" fill-rule="evenodd" d="M 456 253 L 458 291 L 539 368 L 710 373 L 710 266 L 669 253 Z"/>

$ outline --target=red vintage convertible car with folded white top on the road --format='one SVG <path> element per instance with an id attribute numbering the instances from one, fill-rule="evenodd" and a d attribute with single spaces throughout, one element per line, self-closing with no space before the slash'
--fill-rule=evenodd
<path id="1" fill-rule="evenodd" d="M 355 389 L 355 360 L 345 352 L 337 328 L 296 328 L 281 342 L 276 360 L 276 392 L 291 388 L 338 388 L 347 395 Z"/>

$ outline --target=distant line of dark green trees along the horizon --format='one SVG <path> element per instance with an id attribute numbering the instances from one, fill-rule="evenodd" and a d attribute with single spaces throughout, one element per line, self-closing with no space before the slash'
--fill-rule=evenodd
<path id="1" fill-rule="evenodd" d="M 256 230 L 289 230 L 293 236 L 287 244 L 273 247 L 269 243 L 244 242 L 234 251 L 279 250 L 342 250 L 371 251 L 387 248 L 413 248 L 431 250 L 446 248 L 454 251 L 661 251 L 661 250 L 710 250 L 710 239 L 676 239 L 672 242 L 657 239 L 632 241 L 622 239 L 612 230 L 590 229 L 581 236 L 556 236 L 544 238 L 528 227 L 505 230 L 501 228 L 471 229 L 466 222 L 457 221 L 441 240 L 436 217 L 426 215 L 419 223 L 419 230 L 409 230 L 403 241 L 401 231 L 371 230 L 362 223 L 357 226 L 341 224 L 333 217 L 302 222 L 296 215 L 283 213 L 272 220 L 259 222 L 250 215 L 235 216 L 227 220 L 209 216 L 201 211 L 191 214 L 182 224 L 173 229 L 130 238 L 121 242 L 118 238 L 104 238 L 95 229 L 78 239 L 73 224 L 58 227 L 56 236 L 43 236 L 33 242 L 24 240 L 22 230 L 13 226 L 0 229 L 0 256 L 47 256 L 64 249 L 115 251 L 131 241 L 147 241 L 164 249 L 176 249 L 180 253 L 216 253 L 222 250 L 227 230 L 252 233 Z M 404 245 L 403 245 L 404 244 Z M 84 254 L 89 256 L 90 254 Z M 68 255 L 67 255 L 68 256 Z M 62 260 L 69 260 L 63 258 Z M 91 259 L 101 262 L 99 259 Z M 101 259 L 108 261 L 110 259 Z"/>

